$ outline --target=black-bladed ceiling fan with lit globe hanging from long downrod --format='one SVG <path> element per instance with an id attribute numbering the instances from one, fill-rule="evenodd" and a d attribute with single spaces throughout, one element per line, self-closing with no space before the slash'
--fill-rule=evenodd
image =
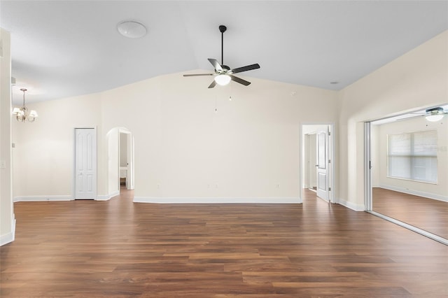
<path id="1" fill-rule="evenodd" d="M 237 67 L 236 69 L 230 69 L 229 66 L 224 65 L 224 32 L 227 30 L 227 27 L 224 25 L 219 26 L 219 31 L 221 31 L 221 64 L 219 64 L 218 60 L 209 58 L 209 62 L 214 66 L 215 73 L 197 73 L 197 74 L 184 74 L 183 76 L 215 76 L 213 82 L 209 85 L 209 88 L 213 88 L 216 84 L 224 86 L 230 83 L 230 80 L 234 82 L 240 83 L 244 86 L 248 86 L 251 82 L 247 80 L 243 80 L 242 78 L 238 78 L 234 76 L 235 73 L 241 73 L 243 71 L 251 71 L 253 69 L 259 69 L 260 65 L 258 63 L 251 64 L 247 66 Z"/>

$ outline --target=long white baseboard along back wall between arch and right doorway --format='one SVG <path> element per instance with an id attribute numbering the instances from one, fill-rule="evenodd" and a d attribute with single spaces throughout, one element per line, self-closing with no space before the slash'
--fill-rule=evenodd
<path id="1" fill-rule="evenodd" d="M 134 203 L 157 204 L 302 204 L 300 197 L 134 197 Z"/>

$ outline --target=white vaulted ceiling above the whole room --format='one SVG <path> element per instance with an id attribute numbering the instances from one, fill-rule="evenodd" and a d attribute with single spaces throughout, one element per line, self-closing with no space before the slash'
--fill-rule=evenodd
<path id="1" fill-rule="evenodd" d="M 207 58 L 221 62 L 220 24 L 228 27 L 225 64 L 261 66 L 242 76 L 331 90 L 448 29 L 448 1 L 1 0 L 0 10 L 11 33 L 14 102 L 20 87 L 29 102 L 212 71 Z M 142 22 L 148 34 L 121 36 L 123 20 Z"/>

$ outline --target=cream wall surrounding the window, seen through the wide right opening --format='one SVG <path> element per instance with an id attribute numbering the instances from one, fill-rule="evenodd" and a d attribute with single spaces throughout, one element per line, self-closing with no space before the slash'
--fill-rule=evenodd
<path id="1" fill-rule="evenodd" d="M 408 192 L 411 194 L 448 201 L 448 120 L 428 122 L 424 117 L 412 118 L 378 125 L 376 138 L 372 138 L 372 147 L 378 152 L 373 171 L 378 173 L 379 187 Z M 407 132 L 437 131 L 437 183 L 421 183 L 411 180 L 387 177 L 387 140 L 388 134 L 402 134 Z"/>

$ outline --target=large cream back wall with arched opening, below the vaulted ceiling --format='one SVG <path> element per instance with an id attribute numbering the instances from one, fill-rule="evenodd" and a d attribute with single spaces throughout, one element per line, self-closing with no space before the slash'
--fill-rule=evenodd
<path id="1" fill-rule="evenodd" d="M 209 90 L 207 79 L 174 73 L 34 104 L 38 122 L 14 125 L 21 159 L 15 197 L 71 196 L 72 130 L 96 126 L 99 196 L 117 191 L 111 157 L 118 148 L 108 148 L 115 141 L 106 134 L 125 127 L 135 139 L 134 194 L 141 201 L 300 201 L 300 123 L 336 122 L 336 92 L 251 81 Z M 69 115 L 58 116 L 61 109 Z"/>

